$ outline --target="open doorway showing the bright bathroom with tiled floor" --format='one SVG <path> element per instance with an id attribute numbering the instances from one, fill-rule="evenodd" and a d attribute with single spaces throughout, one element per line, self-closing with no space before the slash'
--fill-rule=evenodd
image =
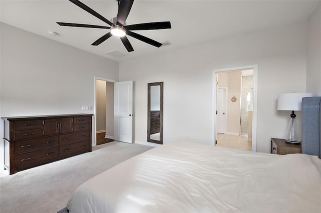
<path id="1" fill-rule="evenodd" d="M 216 145 L 256 151 L 257 65 L 214 70 Z"/>

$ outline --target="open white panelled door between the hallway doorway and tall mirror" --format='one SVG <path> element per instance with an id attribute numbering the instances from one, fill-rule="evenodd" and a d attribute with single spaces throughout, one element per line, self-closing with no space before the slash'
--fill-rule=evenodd
<path id="1" fill-rule="evenodd" d="M 114 83 L 114 140 L 132 143 L 132 80 Z"/>

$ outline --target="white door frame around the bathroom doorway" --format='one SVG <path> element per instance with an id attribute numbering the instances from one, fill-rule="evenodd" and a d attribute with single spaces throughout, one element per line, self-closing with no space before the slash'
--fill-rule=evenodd
<path id="1" fill-rule="evenodd" d="M 257 133 L 257 72 L 258 65 L 245 65 L 229 68 L 221 68 L 213 70 L 213 115 L 212 115 L 212 138 L 215 144 L 216 141 L 216 90 L 217 90 L 217 73 L 218 72 L 228 72 L 228 71 L 237 71 L 242 69 L 253 69 L 253 117 L 252 117 L 252 151 L 256 152 L 256 133 Z"/>

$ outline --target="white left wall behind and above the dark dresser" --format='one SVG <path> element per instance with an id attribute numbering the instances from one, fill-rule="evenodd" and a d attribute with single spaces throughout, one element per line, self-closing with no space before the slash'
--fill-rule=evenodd
<path id="1" fill-rule="evenodd" d="M 94 76 L 118 80 L 118 62 L 5 23 L 0 27 L 0 116 L 94 113 L 81 110 L 94 106 Z"/>

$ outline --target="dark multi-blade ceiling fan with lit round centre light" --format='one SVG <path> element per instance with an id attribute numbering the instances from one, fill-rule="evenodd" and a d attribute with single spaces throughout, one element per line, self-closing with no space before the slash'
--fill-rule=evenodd
<path id="1" fill-rule="evenodd" d="M 138 40 L 141 40 L 145 43 L 150 45 L 159 47 L 162 43 L 155 41 L 151 38 L 145 37 L 141 34 L 137 34 L 130 30 L 149 30 L 149 29 L 170 29 L 172 28 L 170 21 L 160 21 L 160 22 L 149 22 L 149 23 L 137 23 L 131 25 L 125 25 L 127 16 L 130 12 L 131 6 L 134 0 L 117 0 L 118 2 L 118 12 L 117 16 L 112 18 L 111 21 L 100 15 L 95 10 L 91 9 L 89 6 L 85 5 L 84 3 L 80 2 L 79 0 L 69 0 L 72 3 L 76 4 L 80 8 L 86 10 L 90 14 L 94 15 L 95 17 L 99 18 L 100 20 L 104 21 L 110 26 L 101 26 L 101 25 L 92 25 L 92 24 L 84 24 L 84 23 L 66 23 L 66 22 L 57 22 L 61 26 L 75 26 L 75 27 L 88 27 L 88 28 L 102 28 L 102 29 L 110 29 L 109 32 L 98 38 L 95 42 L 91 45 L 99 45 L 103 41 L 107 40 L 110 36 L 115 35 L 120 37 L 122 43 L 126 47 L 128 52 L 133 51 L 133 47 L 130 44 L 128 38 L 125 36 L 126 34 L 134 37 Z"/>

